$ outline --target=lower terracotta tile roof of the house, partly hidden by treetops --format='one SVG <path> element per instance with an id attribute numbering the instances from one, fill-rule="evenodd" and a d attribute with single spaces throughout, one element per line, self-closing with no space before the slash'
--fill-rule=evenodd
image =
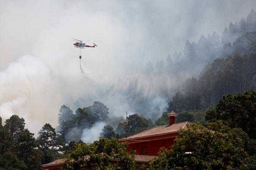
<path id="1" fill-rule="evenodd" d="M 155 158 L 157 156 L 151 156 L 151 155 L 134 155 L 134 159 L 135 159 L 135 162 L 138 162 L 138 163 L 148 163 L 151 159 Z M 86 155 L 84 156 L 85 160 L 88 160 L 89 159 L 89 156 Z M 65 163 L 65 161 L 67 160 L 67 158 L 60 158 L 60 159 L 57 159 L 55 161 L 52 161 L 52 162 L 49 162 L 47 164 L 42 164 L 41 166 L 42 167 L 47 167 L 47 166 L 55 166 L 55 165 L 62 165 Z"/>

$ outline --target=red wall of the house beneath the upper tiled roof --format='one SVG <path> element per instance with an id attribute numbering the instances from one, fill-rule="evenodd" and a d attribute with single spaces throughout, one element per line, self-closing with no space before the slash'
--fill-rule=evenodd
<path id="1" fill-rule="evenodd" d="M 147 147 L 147 155 L 157 155 L 161 147 L 170 148 L 177 134 L 161 135 L 156 137 L 140 138 L 137 141 L 128 141 L 128 151 L 135 150 L 135 154 L 142 154 L 141 148 Z M 164 141 L 164 143 L 163 143 Z"/>

